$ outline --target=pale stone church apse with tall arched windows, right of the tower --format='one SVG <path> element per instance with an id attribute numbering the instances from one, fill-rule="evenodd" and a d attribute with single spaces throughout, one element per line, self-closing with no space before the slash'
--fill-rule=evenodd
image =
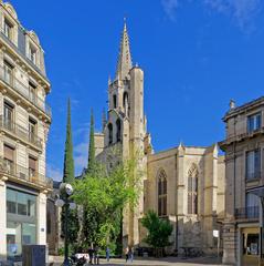
<path id="1" fill-rule="evenodd" d="M 215 254 L 224 214 L 224 161 L 218 146 L 183 146 L 148 156 L 145 213 L 173 225 L 170 252 L 182 247 Z M 142 234 L 144 235 L 144 234 Z"/>

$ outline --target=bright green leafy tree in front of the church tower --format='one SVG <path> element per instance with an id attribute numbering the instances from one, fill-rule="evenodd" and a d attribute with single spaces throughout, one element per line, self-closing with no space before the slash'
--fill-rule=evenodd
<path id="1" fill-rule="evenodd" d="M 137 204 L 140 173 L 134 160 L 110 170 L 96 163 L 92 172 L 75 182 L 74 201 L 86 209 L 85 241 L 105 248 L 120 234 L 123 209 Z"/>

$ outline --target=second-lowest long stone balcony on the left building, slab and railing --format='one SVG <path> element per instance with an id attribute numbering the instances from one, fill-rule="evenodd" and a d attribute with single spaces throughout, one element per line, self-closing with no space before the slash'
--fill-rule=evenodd
<path id="1" fill-rule="evenodd" d="M 0 115 L 0 131 L 9 134 L 13 139 L 24 142 L 27 145 L 31 145 L 38 151 L 42 151 L 42 139 L 40 139 L 36 134 L 29 132 L 29 130 L 22 127 L 21 125 L 6 120 L 2 115 Z"/>

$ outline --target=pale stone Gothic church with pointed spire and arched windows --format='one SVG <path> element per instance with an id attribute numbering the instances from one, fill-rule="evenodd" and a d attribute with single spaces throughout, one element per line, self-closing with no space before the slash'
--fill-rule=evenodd
<path id="1" fill-rule="evenodd" d="M 215 253 L 224 218 L 224 157 L 219 155 L 217 144 L 180 143 L 155 153 L 144 104 L 144 70 L 133 64 L 125 23 L 116 75 L 108 81 L 107 116 L 103 131 L 95 134 L 101 162 L 109 160 L 113 149 L 118 149 L 123 158 L 137 152 L 142 155 L 137 166 L 145 173 L 144 187 L 138 206 L 124 215 L 123 244 L 146 245 L 140 219 L 152 209 L 173 226 L 168 250 L 182 253 L 182 247 L 199 247 L 204 254 Z"/>

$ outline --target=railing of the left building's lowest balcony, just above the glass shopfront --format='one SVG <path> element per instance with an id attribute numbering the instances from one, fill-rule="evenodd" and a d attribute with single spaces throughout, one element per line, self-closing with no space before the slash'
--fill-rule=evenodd
<path id="1" fill-rule="evenodd" d="M 2 157 L 0 157 L 0 173 L 10 175 L 18 180 L 28 181 L 32 184 L 41 185 L 47 188 L 53 187 L 52 178 L 45 177 L 36 171 L 25 168 Z"/>

